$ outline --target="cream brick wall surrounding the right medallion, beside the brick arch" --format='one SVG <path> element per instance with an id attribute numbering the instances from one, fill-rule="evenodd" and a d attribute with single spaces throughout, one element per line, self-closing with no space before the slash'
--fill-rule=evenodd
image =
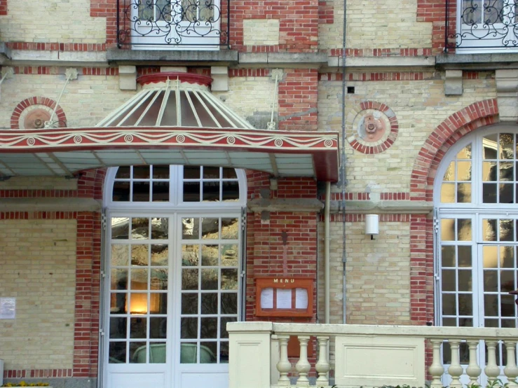
<path id="1" fill-rule="evenodd" d="M 393 146 L 376 155 L 365 155 L 346 143 L 347 190 L 409 191 L 416 156 L 435 127 L 465 106 L 496 97 L 495 81 L 486 76 L 463 80 L 463 95 L 453 97 L 444 96 L 440 74 L 426 81 L 348 82 L 355 94 L 346 97 L 346 116 L 362 101 L 380 102 L 394 111 L 399 132 Z M 319 130 L 341 132 L 341 81 L 319 83 L 318 110 Z"/>

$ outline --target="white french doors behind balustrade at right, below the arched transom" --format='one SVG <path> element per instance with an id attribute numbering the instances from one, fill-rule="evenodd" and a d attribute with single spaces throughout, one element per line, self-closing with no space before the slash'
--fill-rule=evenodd
<path id="1" fill-rule="evenodd" d="M 444 213 L 439 216 L 439 290 L 442 326 L 517 328 L 517 307 L 509 291 L 518 289 L 518 214 Z M 496 349 L 496 362 L 503 375 L 506 350 L 503 343 Z M 461 364 L 468 366 L 468 346 L 461 343 Z M 477 349 L 479 366 L 486 365 L 484 341 Z M 451 362 L 447 342 L 443 363 Z M 468 384 L 468 377 L 463 383 Z M 445 373 L 443 382 L 450 377 Z M 484 373 L 481 384 L 486 384 Z"/>

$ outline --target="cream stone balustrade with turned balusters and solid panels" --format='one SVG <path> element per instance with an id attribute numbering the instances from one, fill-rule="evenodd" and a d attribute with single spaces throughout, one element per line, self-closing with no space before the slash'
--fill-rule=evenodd
<path id="1" fill-rule="evenodd" d="M 450 387 L 480 384 L 484 377 L 490 382 L 497 378 L 507 380 L 509 388 L 518 388 L 518 331 L 513 328 L 233 322 L 227 330 L 229 388 L 331 387 L 330 370 L 337 388 L 402 384 L 425 387 L 425 382 L 430 388 L 441 388 L 445 372 Z M 299 339 L 297 359 L 288 357 L 288 340 L 292 335 Z M 487 347 L 487 360 L 480 366 L 482 340 Z M 318 349 L 316 354 L 308 354 L 312 341 Z M 449 342 L 451 349 L 447 366 L 442 365 L 441 359 L 444 342 Z M 502 367 L 497 364 L 500 343 L 505 343 L 507 359 Z M 469 363 L 460 356 L 460 348 L 465 345 Z M 428 375 L 426 349 L 432 356 Z"/>

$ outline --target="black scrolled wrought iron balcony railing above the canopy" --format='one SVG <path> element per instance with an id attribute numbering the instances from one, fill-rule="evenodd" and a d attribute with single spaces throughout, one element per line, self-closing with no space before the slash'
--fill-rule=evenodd
<path id="1" fill-rule="evenodd" d="M 117 0 L 118 48 L 229 46 L 230 0 Z"/>

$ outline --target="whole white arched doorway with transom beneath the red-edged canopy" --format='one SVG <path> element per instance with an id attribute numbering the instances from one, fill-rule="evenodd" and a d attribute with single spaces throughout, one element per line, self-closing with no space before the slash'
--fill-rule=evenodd
<path id="1" fill-rule="evenodd" d="M 104 387 L 226 387 L 245 173 L 118 167 L 105 188 Z"/>

